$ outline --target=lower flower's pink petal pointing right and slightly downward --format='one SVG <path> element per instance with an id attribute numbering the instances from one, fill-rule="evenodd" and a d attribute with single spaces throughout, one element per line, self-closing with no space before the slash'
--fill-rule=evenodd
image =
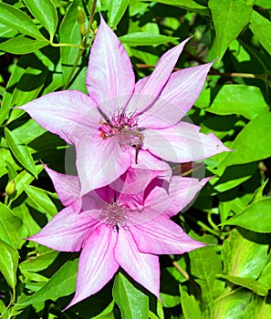
<path id="1" fill-rule="evenodd" d="M 203 247 L 168 217 L 160 215 L 148 223 L 130 227 L 141 252 L 153 254 L 181 254 Z"/>

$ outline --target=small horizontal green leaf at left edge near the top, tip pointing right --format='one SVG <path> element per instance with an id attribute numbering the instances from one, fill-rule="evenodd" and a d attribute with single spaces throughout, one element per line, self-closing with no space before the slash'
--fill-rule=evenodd
<path id="1" fill-rule="evenodd" d="M 44 39 L 32 40 L 27 37 L 19 36 L 2 42 L 0 44 L 0 50 L 13 53 L 15 55 L 26 55 L 27 53 L 34 52 L 47 45 L 48 42 Z"/>

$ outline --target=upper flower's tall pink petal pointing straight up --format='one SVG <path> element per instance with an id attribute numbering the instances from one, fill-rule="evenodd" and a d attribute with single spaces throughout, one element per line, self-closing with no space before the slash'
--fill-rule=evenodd
<path id="1" fill-rule="evenodd" d="M 114 110 L 125 107 L 133 92 L 134 83 L 130 57 L 100 15 L 99 29 L 89 56 L 89 96 L 109 116 Z"/>

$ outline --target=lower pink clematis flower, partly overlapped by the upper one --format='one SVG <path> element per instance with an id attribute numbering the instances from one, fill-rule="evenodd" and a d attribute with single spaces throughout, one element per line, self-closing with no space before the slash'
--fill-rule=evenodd
<path id="1" fill-rule="evenodd" d="M 76 293 L 68 307 L 99 292 L 119 267 L 159 297 L 158 255 L 181 254 L 204 245 L 170 218 L 209 179 L 175 176 L 171 183 L 154 179 L 138 194 L 118 192 L 109 185 L 81 197 L 77 177 L 46 170 L 66 208 L 29 240 L 61 252 L 81 250 Z"/>

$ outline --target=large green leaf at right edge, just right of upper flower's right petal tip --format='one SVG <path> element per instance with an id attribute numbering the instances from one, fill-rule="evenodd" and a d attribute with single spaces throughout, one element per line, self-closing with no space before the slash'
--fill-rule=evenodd
<path id="1" fill-rule="evenodd" d="M 265 112 L 250 121 L 237 135 L 221 166 L 264 160 L 271 156 L 271 112 Z M 259 143 L 259 141 L 261 141 Z"/>

